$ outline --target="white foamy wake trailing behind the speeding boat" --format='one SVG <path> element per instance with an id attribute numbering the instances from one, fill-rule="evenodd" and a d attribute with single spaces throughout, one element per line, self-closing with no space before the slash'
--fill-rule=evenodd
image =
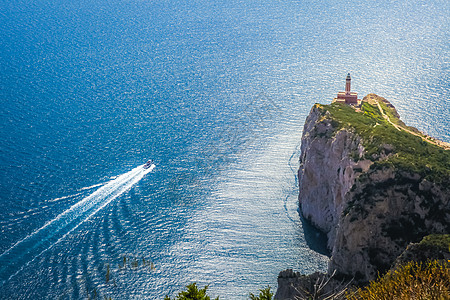
<path id="1" fill-rule="evenodd" d="M 103 184 L 95 192 L 6 250 L 0 255 L 0 286 L 42 253 L 59 243 L 111 201 L 133 187 L 154 168 L 154 164 L 148 168 L 141 165 Z"/>

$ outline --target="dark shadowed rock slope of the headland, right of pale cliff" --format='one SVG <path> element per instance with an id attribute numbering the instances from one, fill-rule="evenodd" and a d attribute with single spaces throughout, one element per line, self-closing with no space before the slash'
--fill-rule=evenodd
<path id="1" fill-rule="evenodd" d="M 329 268 L 366 281 L 387 271 L 409 243 L 450 232 L 450 191 L 395 168 L 362 177 L 348 193 Z"/>

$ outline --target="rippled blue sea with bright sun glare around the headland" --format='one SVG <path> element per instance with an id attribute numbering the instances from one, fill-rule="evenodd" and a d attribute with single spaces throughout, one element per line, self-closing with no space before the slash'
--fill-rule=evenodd
<path id="1" fill-rule="evenodd" d="M 439 0 L 2 0 L 0 298 L 197 282 L 246 299 L 283 269 L 326 270 L 297 212 L 304 120 L 350 72 L 450 142 L 449 15 Z"/>

